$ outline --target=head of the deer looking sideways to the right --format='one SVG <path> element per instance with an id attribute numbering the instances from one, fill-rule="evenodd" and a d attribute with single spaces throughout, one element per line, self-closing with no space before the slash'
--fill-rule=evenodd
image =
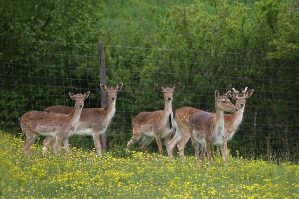
<path id="1" fill-rule="evenodd" d="M 227 92 L 223 96 L 220 96 L 219 92 L 215 91 L 215 106 L 216 108 L 220 108 L 221 110 L 227 111 L 227 112 L 235 112 L 238 110 L 238 108 L 232 104 L 232 102 L 228 99 L 230 96 L 231 91 Z"/>

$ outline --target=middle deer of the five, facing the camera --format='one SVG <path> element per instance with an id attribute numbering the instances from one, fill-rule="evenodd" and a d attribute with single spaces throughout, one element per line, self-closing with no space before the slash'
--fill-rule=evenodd
<path id="1" fill-rule="evenodd" d="M 157 110 L 153 112 L 141 112 L 132 121 L 133 136 L 127 144 L 126 153 L 129 147 L 137 142 L 142 135 L 144 135 L 143 141 L 140 143 L 142 152 L 145 153 L 148 158 L 146 147 L 149 143 L 156 138 L 160 156 L 163 157 L 163 148 L 161 144 L 161 138 L 165 139 L 166 150 L 168 152 L 168 142 L 170 140 L 170 132 L 172 128 L 169 127 L 169 114 L 172 111 L 172 97 L 173 92 L 179 87 L 179 83 L 175 84 L 172 88 L 164 88 L 162 85 L 157 84 L 159 90 L 164 94 L 164 110 Z"/>

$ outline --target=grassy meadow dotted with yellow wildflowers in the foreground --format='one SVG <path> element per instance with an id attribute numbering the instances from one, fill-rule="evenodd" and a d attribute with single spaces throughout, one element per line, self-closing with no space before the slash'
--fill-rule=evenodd
<path id="1" fill-rule="evenodd" d="M 1 198 L 299 198 L 299 166 L 230 157 L 227 169 L 219 153 L 212 168 L 197 168 L 194 156 L 183 163 L 167 157 L 124 149 L 96 156 L 73 148 L 70 157 L 31 147 L 32 160 L 23 152 L 24 140 L 0 132 Z"/>

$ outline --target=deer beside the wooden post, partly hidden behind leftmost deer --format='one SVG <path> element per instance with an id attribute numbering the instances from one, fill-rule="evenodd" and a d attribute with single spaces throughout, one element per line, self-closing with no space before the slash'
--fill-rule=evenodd
<path id="1" fill-rule="evenodd" d="M 115 103 L 117 99 L 117 92 L 122 89 L 123 83 L 118 84 L 117 87 L 106 87 L 101 84 L 101 89 L 107 93 L 108 103 L 105 108 L 83 108 L 77 128 L 72 136 L 92 136 L 94 145 L 98 156 L 102 156 L 100 135 L 104 133 L 114 116 Z M 55 105 L 45 109 L 47 113 L 62 113 L 69 114 L 74 108 L 62 105 Z M 52 137 L 44 139 L 44 154 L 51 144 L 55 153 L 56 140 Z M 66 151 L 69 153 L 69 146 L 64 145 Z"/>

